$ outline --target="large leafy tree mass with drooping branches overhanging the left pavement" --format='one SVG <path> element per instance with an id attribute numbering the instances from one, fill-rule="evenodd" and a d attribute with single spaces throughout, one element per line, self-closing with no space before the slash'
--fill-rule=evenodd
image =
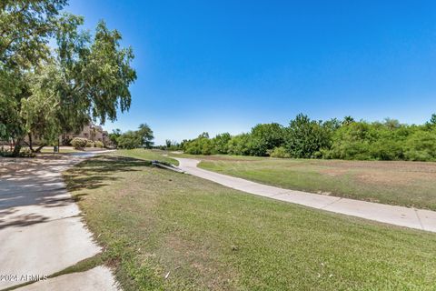
<path id="1" fill-rule="evenodd" d="M 64 4 L 24 0 L 1 6 L 0 32 L 6 37 L 0 44 L 0 77 L 8 89 L 2 86 L 0 92 L 0 124 L 4 137 L 15 139 L 15 155 L 26 134 L 50 141 L 80 130 L 90 119 L 114 121 L 117 110 L 130 107 L 128 88 L 136 78 L 132 49 L 120 48 L 121 35 L 104 22 L 94 37 L 80 32 L 82 17 L 59 16 Z M 9 18 L 16 25 L 23 22 L 24 35 L 6 27 Z M 53 52 L 46 45 L 51 36 L 57 43 Z"/>

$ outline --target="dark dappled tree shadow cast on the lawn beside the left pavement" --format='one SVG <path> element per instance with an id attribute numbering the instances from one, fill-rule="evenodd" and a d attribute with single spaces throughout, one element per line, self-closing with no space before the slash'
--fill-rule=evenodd
<path id="1" fill-rule="evenodd" d="M 144 166 L 152 166 L 152 162 L 126 156 L 96 156 L 66 171 L 64 178 L 69 191 L 96 189 L 118 180 L 117 172 L 141 171 Z M 77 194 L 74 199 L 85 195 Z"/>

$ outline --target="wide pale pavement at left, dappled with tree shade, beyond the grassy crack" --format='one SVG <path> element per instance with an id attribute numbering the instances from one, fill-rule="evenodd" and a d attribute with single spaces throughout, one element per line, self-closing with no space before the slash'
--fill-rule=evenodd
<path id="1" fill-rule="evenodd" d="M 61 176 L 93 155 L 0 158 L 0 276 L 9 276 L 0 278 L 0 289 L 25 283 L 26 276 L 52 275 L 101 251 Z"/>

